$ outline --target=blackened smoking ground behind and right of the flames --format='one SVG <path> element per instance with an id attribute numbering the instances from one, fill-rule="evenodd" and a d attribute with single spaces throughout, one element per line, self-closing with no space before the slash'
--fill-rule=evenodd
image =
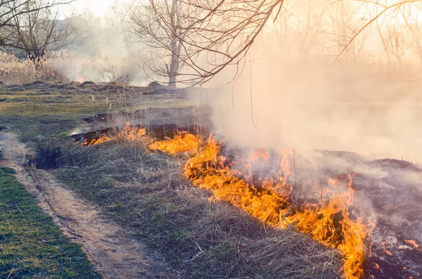
<path id="1" fill-rule="evenodd" d="M 257 191 L 266 190 L 261 188 L 262 182 L 271 174 L 274 178 L 279 168 L 277 150 L 266 150 L 268 158 L 255 162 L 248 161 L 251 150 L 247 148 L 222 145 L 222 153 L 227 164 Z M 245 162 L 250 162 L 248 171 L 244 171 Z M 416 164 L 390 159 L 366 162 L 356 153 L 327 150 L 312 158 L 297 155 L 295 162 L 290 157 L 289 163 L 297 176 L 287 179 L 293 191 L 286 207 L 298 205 L 292 210 L 317 203 L 319 186 L 329 187 L 327 178 L 345 182 L 348 174 L 354 174 L 354 206 L 349 211 L 376 220 L 376 228 L 366 240 L 365 278 L 422 278 L 422 170 Z M 333 217 L 341 230 L 341 214 Z M 341 232 L 338 234 L 341 242 Z"/>

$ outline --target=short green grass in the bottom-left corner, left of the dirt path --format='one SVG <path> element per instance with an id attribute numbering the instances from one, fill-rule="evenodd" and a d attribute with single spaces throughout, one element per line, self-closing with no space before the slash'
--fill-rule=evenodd
<path id="1" fill-rule="evenodd" d="M 12 174 L 0 167 L 0 278 L 101 278 Z"/>

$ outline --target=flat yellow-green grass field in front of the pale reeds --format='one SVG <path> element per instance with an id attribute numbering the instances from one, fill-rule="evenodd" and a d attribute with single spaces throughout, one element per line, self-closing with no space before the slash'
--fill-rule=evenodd
<path id="1" fill-rule="evenodd" d="M 145 87 L 117 84 L 45 84 L 0 86 L 0 126 L 32 148 L 70 145 L 70 133 L 94 114 L 153 107 L 183 107 L 180 98 L 143 96 Z"/>

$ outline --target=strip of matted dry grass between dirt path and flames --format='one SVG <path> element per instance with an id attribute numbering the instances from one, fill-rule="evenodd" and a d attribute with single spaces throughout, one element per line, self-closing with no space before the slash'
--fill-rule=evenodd
<path id="1" fill-rule="evenodd" d="M 123 139 L 76 148 L 61 174 L 124 226 L 151 241 L 183 278 L 340 278 L 341 255 L 276 230 L 182 176 L 185 159 Z"/>

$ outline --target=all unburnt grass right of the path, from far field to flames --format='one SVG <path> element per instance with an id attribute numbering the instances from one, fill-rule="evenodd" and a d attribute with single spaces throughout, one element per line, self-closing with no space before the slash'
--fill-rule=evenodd
<path id="1" fill-rule="evenodd" d="M 66 156 L 56 176 L 159 251 L 181 278 L 340 278 L 338 251 L 209 200 L 210 193 L 183 178 L 184 158 L 151 153 L 136 142 L 75 145 L 72 131 L 84 126 L 84 117 L 110 112 L 110 103 L 113 112 L 192 105 L 177 96 L 142 96 L 144 88 L 121 90 L 92 84 L 0 86 L 0 126 L 39 153 L 62 148 Z"/>

